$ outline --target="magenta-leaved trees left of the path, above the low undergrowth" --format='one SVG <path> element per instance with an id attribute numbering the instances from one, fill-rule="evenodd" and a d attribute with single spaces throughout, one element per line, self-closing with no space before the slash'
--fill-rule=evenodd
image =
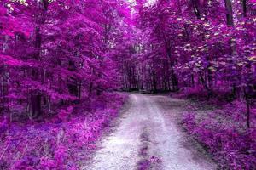
<path id="1" fill-rule="evenodd" d="M 1 113 L 37 118 L 118 87 L 110 53 L 129 11 L 122 1 L 1 1 Z"/>

